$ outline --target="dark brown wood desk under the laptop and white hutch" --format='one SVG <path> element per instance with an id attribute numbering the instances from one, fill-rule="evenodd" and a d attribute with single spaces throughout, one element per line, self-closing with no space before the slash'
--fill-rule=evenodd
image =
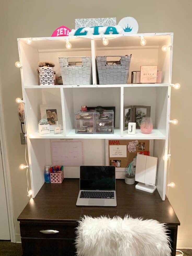
<path id="1" fill-rule="evenodd" d="M 179 220 L 168 200 L 162 201 L 157 190 L 153 194 L 136 190 L 124 180 L 116 181 L 117 207 L 76 206 L 79 179 L 64 179 L 62 184 L 44 184 L 22 211 L 20 221 L 24 255 L 75 255 L 74 238 L 77 221 L 84 215 L 110 218 L 130 214 L 133 218 L 156 219 L 170 230 L 172 255 L 176 254 Z M 43 234 L 40 230 L 57 230 Z"/>

